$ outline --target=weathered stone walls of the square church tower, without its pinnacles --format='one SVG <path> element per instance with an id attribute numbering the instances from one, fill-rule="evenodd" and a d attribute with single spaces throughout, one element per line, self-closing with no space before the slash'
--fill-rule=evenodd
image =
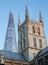
<path id="1" fill-rule="evenodd" d="M 33 26 L 35 29 L 35 33 L 33 33 Z M 40 34 L 38 34 L 39 30 Z M 22 34 L 22 36 L 21 36 Z M 44 34 L 44 26 L 40 22 L 35 22 L 29 20 L 25 22 L 20 27 L 19 32 L 19 52 L 22 52 L 27 61 L 31 61 L 34 58 L 34 54 L 36 55 L 40 50 L 46 47 L 46 37 Z M 37 47 L 34 47 L 33 39 L 36 38 Z M 24 39 L 25 39 L 25 48 L 24 48 Z M 42 48 L 40 48 L 39 39 L 42 40 Z M 23 49 L 21 50 L 21 42 Z"/>

